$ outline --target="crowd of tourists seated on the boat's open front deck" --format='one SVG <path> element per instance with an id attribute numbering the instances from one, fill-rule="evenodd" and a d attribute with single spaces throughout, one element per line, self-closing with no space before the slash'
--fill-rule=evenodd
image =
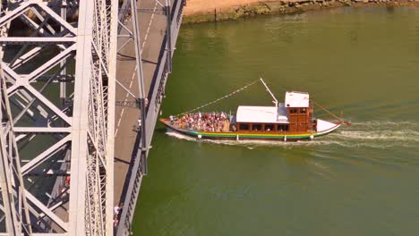
<path id="1" fill-rule="evenodd" d="M 229 129 L 230 114 L 208 113 L 208 114 L 184 114 L 181 117 L 170 115 L 170 122 L 176 128 L 194 131 L 224 131 Z M 227 123 L 226 123 L 227 122 Z"/>

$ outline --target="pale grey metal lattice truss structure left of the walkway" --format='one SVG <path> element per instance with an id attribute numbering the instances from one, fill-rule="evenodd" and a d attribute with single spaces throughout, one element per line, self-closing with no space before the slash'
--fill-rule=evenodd
<path id="1" fill-rule="evenodd" d="M 0 234 L 112 235 L 117 15 L 2 1 Z"/>

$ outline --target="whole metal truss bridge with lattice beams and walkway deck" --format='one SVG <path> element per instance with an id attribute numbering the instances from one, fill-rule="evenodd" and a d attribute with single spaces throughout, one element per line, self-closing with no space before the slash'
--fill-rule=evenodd
<path id="1" fill-rule="evenodd" d="M 1 0 L 0 236 L 130 235 L 184 4 Z"/>

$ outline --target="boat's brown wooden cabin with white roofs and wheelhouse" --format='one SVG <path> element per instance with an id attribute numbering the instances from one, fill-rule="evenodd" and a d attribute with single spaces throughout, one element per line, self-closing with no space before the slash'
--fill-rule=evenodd
<path id="1" fill-rule="evenodd" d="M 314 130 L 309 94 L 286 92 L 285 104 L 237 109 L 234 130 L 240 132 L 310 132 Z"/>

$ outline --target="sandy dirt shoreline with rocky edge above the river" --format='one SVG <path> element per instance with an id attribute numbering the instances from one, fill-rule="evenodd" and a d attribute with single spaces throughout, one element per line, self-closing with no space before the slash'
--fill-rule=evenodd
<path id="1" fill-rule="evenodd" d="M 260 14 L 289 14 L 342 6 L 419 6 L 419 0 L 187 0 L 184 24 L 229 21 Z"/>

